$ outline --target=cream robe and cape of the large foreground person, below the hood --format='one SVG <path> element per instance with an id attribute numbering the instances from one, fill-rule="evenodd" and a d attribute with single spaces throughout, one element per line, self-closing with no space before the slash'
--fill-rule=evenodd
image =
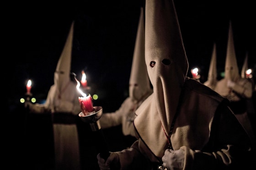
<path id="1" fill-rule="evenodd" d="M 167 140 L 154 109 L 154 94 L 136 111 L 138 140 L 117 152 L 121 170 L 153 170 L 161 164 Z M 148 112 L 147 112 L 148 110 Z M 246 169 L 251 167 L 251 143 L 228 107 L 228 101 L 200 82 L 187 78 L 181 92 L 171 143 L 185 150 L 183 170 Z M 143 112 L 141 112 L 143 111 Z"/>

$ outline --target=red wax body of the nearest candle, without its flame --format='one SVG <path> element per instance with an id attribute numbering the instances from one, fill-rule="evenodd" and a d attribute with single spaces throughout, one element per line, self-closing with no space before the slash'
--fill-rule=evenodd
<path id="1" fill-rule="evenodd" d="M 79 97 L 79 103 L 81 110 L 85 116 L 94 111 L 91 95 L 88 95 L 86 97 Z"/>

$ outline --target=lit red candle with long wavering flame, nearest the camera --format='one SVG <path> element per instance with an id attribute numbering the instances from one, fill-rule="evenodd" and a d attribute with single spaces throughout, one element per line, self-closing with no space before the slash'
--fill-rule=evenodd
<path id="1" fill-rule="evenodd" d="M 90 115 L 91 113 L 94 113 L 94 108 L 92 105 L 92 97 L 89 94 L 88 96 L 83 93 L 80 90 L 80 82 L 75 78 L 77 85 L 76 88 L 77 90 L 82 94 L 83 97 L 79 97 L 79 103 L 80 103 L 80 107 L 81 107 L 81 111 L 83 112 L 84 116 Z"/>

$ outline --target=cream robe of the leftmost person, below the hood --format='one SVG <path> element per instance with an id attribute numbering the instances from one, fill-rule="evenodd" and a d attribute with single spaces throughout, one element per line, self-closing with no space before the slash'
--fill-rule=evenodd
<path id="1" fill-rule="evenodd" d="M 32 113 L 62 113 L 72 117 L 81 112 L 75 83 L 69 81 L 58 98 L 56 85 L 52 85 L 44 104 L 30 105 Z M 64 116 L 63 115 L 63 116 Z M 63 117 L 62 116 L 62 117 Z M 73 123 L 56 123 L 53 115 L 55 170 L 80 170 L 80 149 L 77 126 Z"/>

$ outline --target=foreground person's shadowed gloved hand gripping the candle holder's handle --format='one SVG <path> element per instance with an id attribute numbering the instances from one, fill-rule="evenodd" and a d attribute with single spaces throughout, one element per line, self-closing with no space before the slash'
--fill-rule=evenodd
<path id="1" fill-rule="evenodd" d="M 110 152 L 107 160 L 105 161 L 101 158 L 101 155 L 97 155 L 98 164 L 101 170 L 119 170 L 120 169 L 120 162 L 117 153 Z"/>

